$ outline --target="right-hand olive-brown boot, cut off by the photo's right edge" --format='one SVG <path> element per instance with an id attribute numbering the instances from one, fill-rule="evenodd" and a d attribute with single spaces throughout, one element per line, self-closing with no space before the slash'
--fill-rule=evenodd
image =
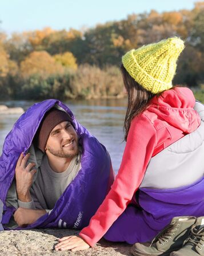
<path id="1" fill-rule="evenodd" d="M 189 237 L 184 241 L 182 249 L 173 251 L 171 256 L 204 256 L 204 217 L 197 218 L 191 227 Z"/>

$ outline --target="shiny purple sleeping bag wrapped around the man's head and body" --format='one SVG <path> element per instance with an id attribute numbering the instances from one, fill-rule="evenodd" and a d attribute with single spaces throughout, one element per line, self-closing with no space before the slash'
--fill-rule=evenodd
<path id="1" fill-rule="evenodd" d="M 73 120 L 82 145 L 82 168 L 59 197 L 53 210 L 27 227 L 9 227 L 8 223 L 18 207 L 15 189 L 17 160 L 21 152 L 26 154 L 29 151 L 43 116 L 53 107 L 65 110 Z M 55 227 L 81 229 L 89 224 L 113 180 L 111 160 L 105 146 L 77 122 L 71 110 L 56 99 L 36 103 L 15 122 L 3 145 L 0 157 L 0 230 Z"/>

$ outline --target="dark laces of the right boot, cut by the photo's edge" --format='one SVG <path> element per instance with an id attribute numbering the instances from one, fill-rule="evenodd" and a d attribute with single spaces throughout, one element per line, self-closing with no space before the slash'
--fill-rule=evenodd
<path id="1" fill-rule="evenodd" d="M 186 243 L 193 243 L 193 245 L 198 246 L 198 248 L 201 250 L 204 246 L 204 227 L 197 230 L 195 226 L 192 226 L 190 235 L 183 242 L 183 246 L 186 245 Z"/>

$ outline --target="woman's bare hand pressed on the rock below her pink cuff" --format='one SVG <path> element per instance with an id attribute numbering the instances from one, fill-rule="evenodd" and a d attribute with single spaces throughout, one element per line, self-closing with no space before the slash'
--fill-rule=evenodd
<path id="1" fill-rule="evenodd" d="M 71 250 L 71 251 L 80 251 L 86 250 L 90 246 L 87 244 L 81 237 L 71 235 L 65 236 L 61 239 L 58 239 L 59 243 L 55 246 L 55 250 Z"/>

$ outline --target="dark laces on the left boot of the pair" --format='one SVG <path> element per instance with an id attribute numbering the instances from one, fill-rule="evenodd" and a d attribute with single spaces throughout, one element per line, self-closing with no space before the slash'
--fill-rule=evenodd
<path id="1" fill-rule="evenodd" d="M 171 223 L 168 226 L 166 226 L 154 239 L 151 241 L 151 245 L 153 245 L 154 242 L 159 241 L 161 245 L 164 245 L 164 243 L 167 243 L 168 240 L 172 238 L 172 236 L 177 231 L 177 227 L 179 227 L 180 224 Z"/>

